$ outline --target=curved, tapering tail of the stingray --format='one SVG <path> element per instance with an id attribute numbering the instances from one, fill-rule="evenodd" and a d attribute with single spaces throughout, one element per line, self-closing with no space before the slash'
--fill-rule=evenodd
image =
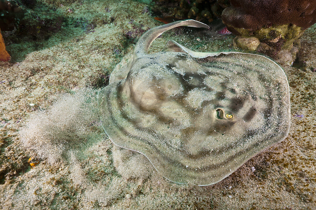
<path id="1" fill-rule="evenodd" d="M 142 37 L 138 40 L 134 49 L 134 59 L 142 56 L 143 54 L 148 54 L 148 49 L 151 43 L 159 37 L 163 32 L 168 31 L 172 28 L 178 26 L 189 26 L 196 28 L 210 28 L 208 25 L 201 23 L 196 20 L 180 20 L 173 23 L 169 23 L 162 26 L 157 26 L 155 28 L 149 29 Z"/>

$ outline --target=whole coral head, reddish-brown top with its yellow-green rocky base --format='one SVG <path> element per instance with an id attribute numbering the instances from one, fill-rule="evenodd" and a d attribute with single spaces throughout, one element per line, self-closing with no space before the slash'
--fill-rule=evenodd
<path id="1" fill-rule="evenodd" d="M 314 0 L 231 0 L 231 5 L 223 10 L 222 20 L 238 35 L 234 46 L 267 54 L 283 64 L 295 60 L 298 39 L 316 22 Z M 251 38 L 257 38 L 260 44 L 250 47 Z"/>

